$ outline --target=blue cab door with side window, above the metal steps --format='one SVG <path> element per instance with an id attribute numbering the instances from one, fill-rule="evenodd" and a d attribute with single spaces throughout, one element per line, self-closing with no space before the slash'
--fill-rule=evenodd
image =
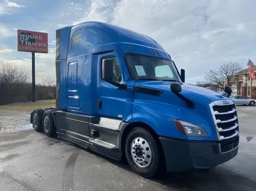
<path id="1" fill-rule="evenodd" d="M 122 84 L 123 88 L 118 88 L 117 86 L 102 80 L 102 61 L 104 59 L 110 59 L 113 61 L 112 81 Z M 130 109 L 126 109 L 126 83 L 128 80 L 128 71 L 122 52 L 119 50 L 114 50 L 112 52 L 99 55 L 97 71 L 97 113 L 104 117 L 122 119 L 127 112 L 131 112 Z"/>

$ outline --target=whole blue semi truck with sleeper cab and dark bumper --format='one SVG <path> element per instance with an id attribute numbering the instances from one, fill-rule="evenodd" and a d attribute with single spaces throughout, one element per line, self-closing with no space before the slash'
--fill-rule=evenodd
<path id="1" fill-rule="evenodd" d="M 56 107 L 36 108 L 36 131 L 115 160 L 144 177 L 210 169 L 236 156 L 236 106 L 188 85 L 150 37 L 101 22 L 56 31 Z"/>

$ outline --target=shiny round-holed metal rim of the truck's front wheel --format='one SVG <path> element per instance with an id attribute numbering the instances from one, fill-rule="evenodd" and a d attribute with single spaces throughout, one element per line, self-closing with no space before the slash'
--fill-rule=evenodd
<path id="1" fill-rule="evenodd" d="M 149 143 L 142 137 L 136 137 L 132 140 L 130 150 L 133 161 L 141 168 L 145 168 L 151 163 L 151 148 Z"/>

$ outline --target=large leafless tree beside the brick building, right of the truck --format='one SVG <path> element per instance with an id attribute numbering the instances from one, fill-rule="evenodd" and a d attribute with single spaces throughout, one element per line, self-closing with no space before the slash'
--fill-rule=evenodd
<path id="1" fill-rule="evenodd" d="M 241 77 L 240 71 L 243 69 L 242 64 L 239 62 L 224 63 L 218 69 L 210 69 L 206 72 L 204 79 L 207 83 L 217 85 L 221 89 L 224 89 L 225 86 L 233 87 Z"/>

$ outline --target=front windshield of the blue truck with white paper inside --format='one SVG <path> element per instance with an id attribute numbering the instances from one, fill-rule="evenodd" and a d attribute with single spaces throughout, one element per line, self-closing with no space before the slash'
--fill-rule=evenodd
<path id="1" fill-rule="evenodd" d="M 152 56 L 127 54 L 126 63 L 133 80 L 181 82 L 173 61 Z"/>

